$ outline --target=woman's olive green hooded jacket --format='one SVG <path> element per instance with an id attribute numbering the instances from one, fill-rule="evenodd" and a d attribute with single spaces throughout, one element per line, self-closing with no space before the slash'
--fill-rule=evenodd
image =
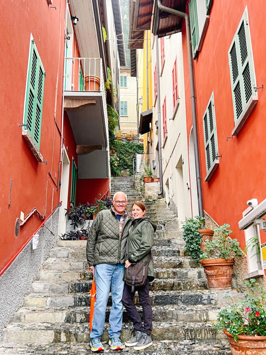
<path id="1" fill-rule="evenodd" d="M 149 252 L 153 247 L 156 224 L 148 217 L 133 219 L 128 235 L 128 261 L 131 263 L 148 262 Z M 127 260 L 127 256 L 126 256 Z M 148 268 L 149 281 L 154 280 L 153 260 Z"/>

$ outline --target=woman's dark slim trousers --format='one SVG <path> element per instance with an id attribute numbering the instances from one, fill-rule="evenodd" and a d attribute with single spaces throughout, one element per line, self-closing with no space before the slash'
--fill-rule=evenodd
<path id="1" fill-rule="evenodd" d="M 149 288 L 150 286 L 148 278 L 146 280 L 145 285 L 135 287 L 134 293 L 131 292 L 131 286 L 128 286 L 125 283 L 122 297 L 123 305 L 126 307 L 127 313 L 133 322 L 135 330 L 139 332 L 144 332 L 148 335 L 150 335 L 151 333 L 151 323 L 153 321 L 153 311 L 150 304 Z M 133 304 L 133 297 L 135 291 L 138 291 L 139 301 L 143 308 L 143 325 L 139 312 Z"/>

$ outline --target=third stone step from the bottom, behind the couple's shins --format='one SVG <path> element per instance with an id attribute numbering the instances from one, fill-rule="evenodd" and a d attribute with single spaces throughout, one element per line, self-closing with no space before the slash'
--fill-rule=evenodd
<path id="1" fill-rule="evenodd" d="M 142 307 L 137 306 L 140 316 L 143 320 Z M 109 320 L 111 307 L 106 310 L 106 322 Z M 153 321 L 154 322 L 214 322 L 217 320 L 218 312 L 221 308 L 207 306 L 154 306 Z M 15 315 L 14 323 L 87 323 L 89 322 L 89 307 L 53 307 L 45 308 L 25 308 L 22 307 Z M 127 311 L 123 310 L 123 322 L 131 322 Z"/>

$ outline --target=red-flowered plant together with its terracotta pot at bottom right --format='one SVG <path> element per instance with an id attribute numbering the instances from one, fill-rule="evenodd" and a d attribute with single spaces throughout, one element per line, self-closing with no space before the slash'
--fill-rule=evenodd
<path id="1" fill-rule="evenodd" d="M 233 355 L 266 354 L 266 310 L 264 308 L 266 292 L 255 279 L 244 282 L 250 291 L 245 298 L 233 301 L 218 314 L 216 329 L 222 329 L 227 335 Z"/>

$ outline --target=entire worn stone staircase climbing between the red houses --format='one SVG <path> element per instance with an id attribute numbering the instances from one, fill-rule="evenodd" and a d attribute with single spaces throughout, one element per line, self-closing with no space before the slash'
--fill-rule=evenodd
<path id="1" fill-rule="evenodd" d="M 134 190 L 133 179 L 112 178 L 113 194 L 125 191 L 129 204 L 141 199 Z M 153 306 L 154 345 L 143 355 L 229 355 L 229 346 L 222 332 L 212 329 L 217 313 L 229 303 L 236 291 L 209 291 L 199 263 L 184 255 L 184 242 L 176 215 L 165 200 L 145 203 L 147 215 L 158 225 L 153 259 L 156 278 L 150 285 Z M 32 284 L 31 294 L 4 328 L 0 354 L 75 354 L 90 353 L 89 306 L 92 276 L 87 272 L 86 241 L 58 240 Z M 141 310 L 138 296 L 135 304 Z M 110 312 L 108 301 L 106 320 Z M 142 313 L 142 311 L 140 311 Z M 108 341 L 106 323 L 102 340 Z M 124 311 L 121 339 L 133 334 L 132 322 Z M 225 346 L 223 346 L 225 345 Z M 110 353 L 105 344 L 105 353 Z M 126 348 L 128 354 L 137 351 Z"/>

